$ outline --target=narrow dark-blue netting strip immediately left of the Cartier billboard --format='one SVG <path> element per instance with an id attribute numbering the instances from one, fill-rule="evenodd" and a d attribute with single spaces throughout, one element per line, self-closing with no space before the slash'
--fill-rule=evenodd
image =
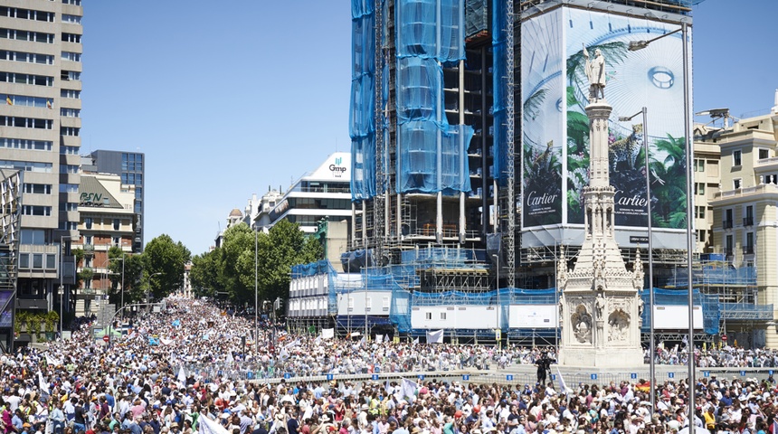
<path id="1" fill-rule="evenodd" d="M 499 185 L 505 185 L 507 177 L 506 170 L 506 151 L 508 150 L 508 144 L 506 143 L 505 126 L 508 125 L 508 121 L 513 122 L 513 119 L 508 119 L 506 113 L 506 86 L 505 80 L 508 77 L 508 71 L 505 61 L 505 34 L 506 34 L 506 13 L 505 2 L 495 1 L 492 2 L 492 81 L 493 81 L 493 112 L 494 112 L 494 131 L 492 133 L 493 142 L 493 154 L 494 154 L 494 166 L 492 169 L 492 176 L 498 180 Z"/>

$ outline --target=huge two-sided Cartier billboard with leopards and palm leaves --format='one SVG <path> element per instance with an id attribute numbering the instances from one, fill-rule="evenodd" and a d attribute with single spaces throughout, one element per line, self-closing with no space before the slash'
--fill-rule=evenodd
<path id="1" fill-rule="evenodd" d="M 636 14 L 631 17 L 627 14 Z M 584 46 L 606 61 L 610 177 L 616 188 L 617 241 L 631 242 L 648 224 L 645 176 L 661 244 L 685 246 L 686 156 L 681 33 L 631 52 L 630 42 L 678 30 L 679 24 L 624 14 L 560 6 L 525 17 L 521 33 L 522 229 L 583 231 L 584 187 L 589 184 L 589 82 Z M 690 80 L 690 79 L 689 79 Z M 642 119 L 621 122 L 648 109 L 650 167 L 645 167 Z M 622 231 L 620 238 L 618 232 Z M 676 240 L 677 239 L 677 240 Z M 525 244 L 538 241 L 523 237 Z"/>

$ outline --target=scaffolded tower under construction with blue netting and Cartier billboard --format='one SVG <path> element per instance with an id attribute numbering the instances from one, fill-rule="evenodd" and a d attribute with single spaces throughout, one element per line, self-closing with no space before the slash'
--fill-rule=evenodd
<path id="1" fill-rule="evenodd" d="M 697 3 L 353 0 L 351 274 L 318 274 L 329 276 L 319 289 L 328 319 L 293 308 L 305 304 L 296 292 L 292 324 L 555 340 L 556 258 L 564 246 L 572 263 L 584 240 L 587 47 L 618 74 L 606 95 L 616 241 L 628 263 L 639 249 L 645 258 L 651 203 L 663 303 L 688 303 L 668 282 L 687 268 L 679 29 Z M 617 120 L 641 107 L 648 143 L 646 126 Z M 730 315 L 708 287 L 695 296 L 707 310 L 700 336 Z"/>

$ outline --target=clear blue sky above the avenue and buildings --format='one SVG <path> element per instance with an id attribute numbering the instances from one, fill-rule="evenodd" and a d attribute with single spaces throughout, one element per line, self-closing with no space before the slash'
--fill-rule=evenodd
<path id="1" fill-rule="evenodd" d="M 775 16 L 695 6 L 695 111 L 773 107 Z M 86 0 L 83 25 L 82 153 L 146 154 L 146 241 L 207 251 L 252 193 L 349 149 L 349 1 Z"/>

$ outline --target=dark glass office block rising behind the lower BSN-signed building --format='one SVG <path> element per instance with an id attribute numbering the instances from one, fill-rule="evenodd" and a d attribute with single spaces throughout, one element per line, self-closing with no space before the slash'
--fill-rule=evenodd
<path id="1" fill-rule="evenodd" d="M 143 198 L 146 192 L 144 184 L 144 166 L 146 156 L 141 152 L 98 150 L 90 154 L 91 165 L 84 167 L 84 173 L 119 175 L 121 183 L 135 188 L 133 210 L 138 215 L 132 251 L 143 251 Z"/>

